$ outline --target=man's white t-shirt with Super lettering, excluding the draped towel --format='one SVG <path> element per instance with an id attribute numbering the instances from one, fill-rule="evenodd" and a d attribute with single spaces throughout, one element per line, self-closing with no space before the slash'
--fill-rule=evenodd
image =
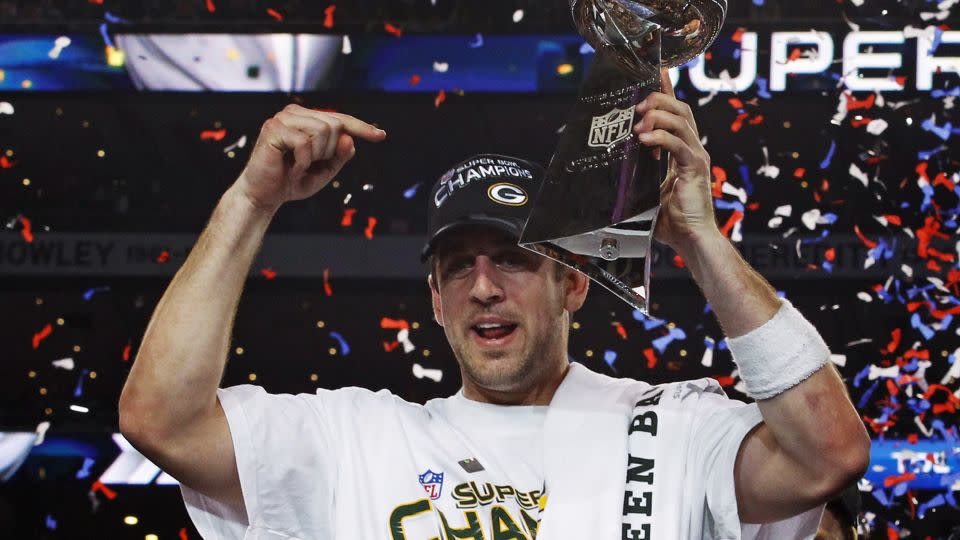
<path id="1" fill-rule="evenodd" d="M 217 394 L 246 516 L 181 484 L 208 540 L 535 538 L 547 406 L 480 403 L 462 390 L 425 405 L 355 387 L 294 396 L 239 385 Z M 760 412 L 710 393 L 698 408 L 703 421 L 685 469 L 698 492 L 684 496 L 679 515 L 702 522 L 695 537 L 736 538 L 734 461 Z M 821 511 L 741 524 L 740 538 L 812 538 Z"/>

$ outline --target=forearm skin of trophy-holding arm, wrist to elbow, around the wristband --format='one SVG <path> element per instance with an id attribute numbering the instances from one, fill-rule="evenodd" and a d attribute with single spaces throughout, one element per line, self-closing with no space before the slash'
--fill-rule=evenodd
<path id="1" fill-rule="evenodd" d="M 773 287 L 719 232 L 692 242 L 681 257 L 728 337 L 760 328 L 779 311 Z M 791 338 L 810 340 L 801 331 Z M 810 349 L 817 347 L 811 344 Z M 811 471 L 811 482 L 821 474 L 828 482 L 864 466 L 869 437 L 839 373 L 827 358 L 818 360 L 827 363 L 796 386 L 757 404 L 781 449 Z"/>

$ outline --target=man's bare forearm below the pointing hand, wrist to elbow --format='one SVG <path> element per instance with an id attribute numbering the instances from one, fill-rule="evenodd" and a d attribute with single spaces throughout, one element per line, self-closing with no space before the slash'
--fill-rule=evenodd
<path id="1" fill-rule="evenodd" d="M 240 293 L 272 216 L 235 188 L 221 197 L 147 325 L 121 425 L 175 429 L 215 406 Z"/>

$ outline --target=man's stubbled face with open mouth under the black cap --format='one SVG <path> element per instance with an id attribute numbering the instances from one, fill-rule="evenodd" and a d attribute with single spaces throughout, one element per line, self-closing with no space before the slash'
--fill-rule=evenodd
<path id="1" fill-rule="evenodd" d="M 529 391 L 566 361 L 568 310 L 582 305 L 586 277 L 489 227 L 447 233 L 435 258 L 434 314 L 465 387 Z"/>

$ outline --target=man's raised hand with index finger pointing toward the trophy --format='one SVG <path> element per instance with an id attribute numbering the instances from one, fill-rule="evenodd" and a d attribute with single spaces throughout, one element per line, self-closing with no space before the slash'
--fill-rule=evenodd
<path id="1" fill-rule="evenodd" d="M 353 137 L 386 132 L 347 114 L 290 104 L 267 119 L 236 187 L 256 207 L 275 211 L 326 186 L 356 153 Z"/>

